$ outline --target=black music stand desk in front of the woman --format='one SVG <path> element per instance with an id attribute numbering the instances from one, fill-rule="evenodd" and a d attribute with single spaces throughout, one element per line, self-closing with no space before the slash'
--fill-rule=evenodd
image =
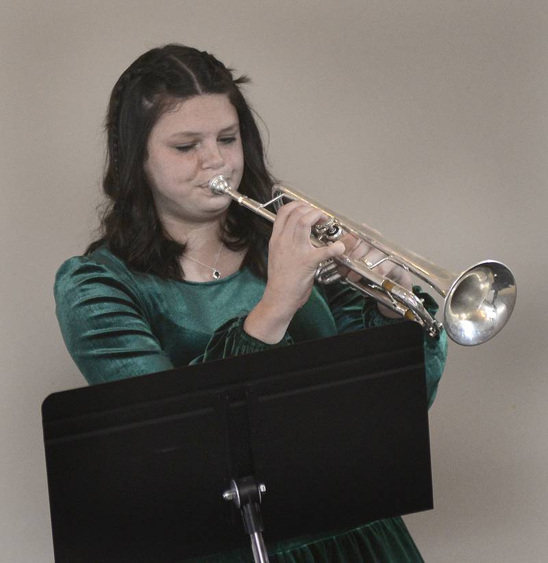
<path id="1" fill-rule="evenodd" d="M 415 323 L 54 393 L 42 421 L 57 563 L 249 556 L 245 477 L 271 549 L 432 508 Z"/>

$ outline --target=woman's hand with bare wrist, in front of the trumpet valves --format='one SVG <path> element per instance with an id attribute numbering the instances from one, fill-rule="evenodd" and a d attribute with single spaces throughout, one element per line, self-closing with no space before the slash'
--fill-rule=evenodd
<path id="1" fill-rule="evenodd" d="M 244 323 L 252 337 L 272 344 L 282 340 L 293 315 L 310 297 L 319 263 L 345 252 L 342 241 L 312 246 L 310 229 L 322 218 L 321 211 L 303 202 L 279 209 L 269 244 L 266 288 Z"/>

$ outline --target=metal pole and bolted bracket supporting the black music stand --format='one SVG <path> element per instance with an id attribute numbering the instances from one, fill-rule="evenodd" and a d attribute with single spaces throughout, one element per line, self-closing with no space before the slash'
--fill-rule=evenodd
<path id="1" fill-rule="evenodd" d="M 262 538 L 264 525 L 260 511 L 261 493 L 266 493 L 264 484 L 257 484 L 254 477 L 242 477 L 230 482 L 223 499 L 233 501 L 242 513 L 245 533 L 251 539 L 251 550 L 255 563 L 269 563 L 269 554 Z"/>

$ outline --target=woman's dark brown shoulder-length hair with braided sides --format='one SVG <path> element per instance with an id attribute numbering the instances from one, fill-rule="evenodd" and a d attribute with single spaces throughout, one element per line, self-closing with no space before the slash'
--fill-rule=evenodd
<path id="1" fill-rule="evenodd" d="M 260 132 L 232 69 L 206 51 L 180 44 L 151 49 L 118 79 L 105 120 L 108 150 L 103 177 L 107 198 L 101 215 L 101 236 L 86 249 L 107 245 L 138 272 L 162 278 L 184 278 L 179 257 L 185 245 L 162 228 L 147 183 L 143 162 L 147 141 L 160 116 L 182 100 L 202 94 L 226 94 L 240 121 L 244 170 L 238 191 L 253 199 L 269 198 L 273 177 L 266 170 Z M 242 267 L 266 278 L 265 250 L 271 226 L 236 204 L 229 207 L 223 240 L 231 250 L 247 253 Z"/>

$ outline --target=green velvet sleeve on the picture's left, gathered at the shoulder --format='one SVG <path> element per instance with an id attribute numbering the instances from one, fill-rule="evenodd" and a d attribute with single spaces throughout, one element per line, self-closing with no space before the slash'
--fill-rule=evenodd
<path id="1" fill-rule="evenodd" d="M 90 384 L 173 369 L 123 277 L 86 257 L 55 276 L 55 312 L 66 348 Z"/>

